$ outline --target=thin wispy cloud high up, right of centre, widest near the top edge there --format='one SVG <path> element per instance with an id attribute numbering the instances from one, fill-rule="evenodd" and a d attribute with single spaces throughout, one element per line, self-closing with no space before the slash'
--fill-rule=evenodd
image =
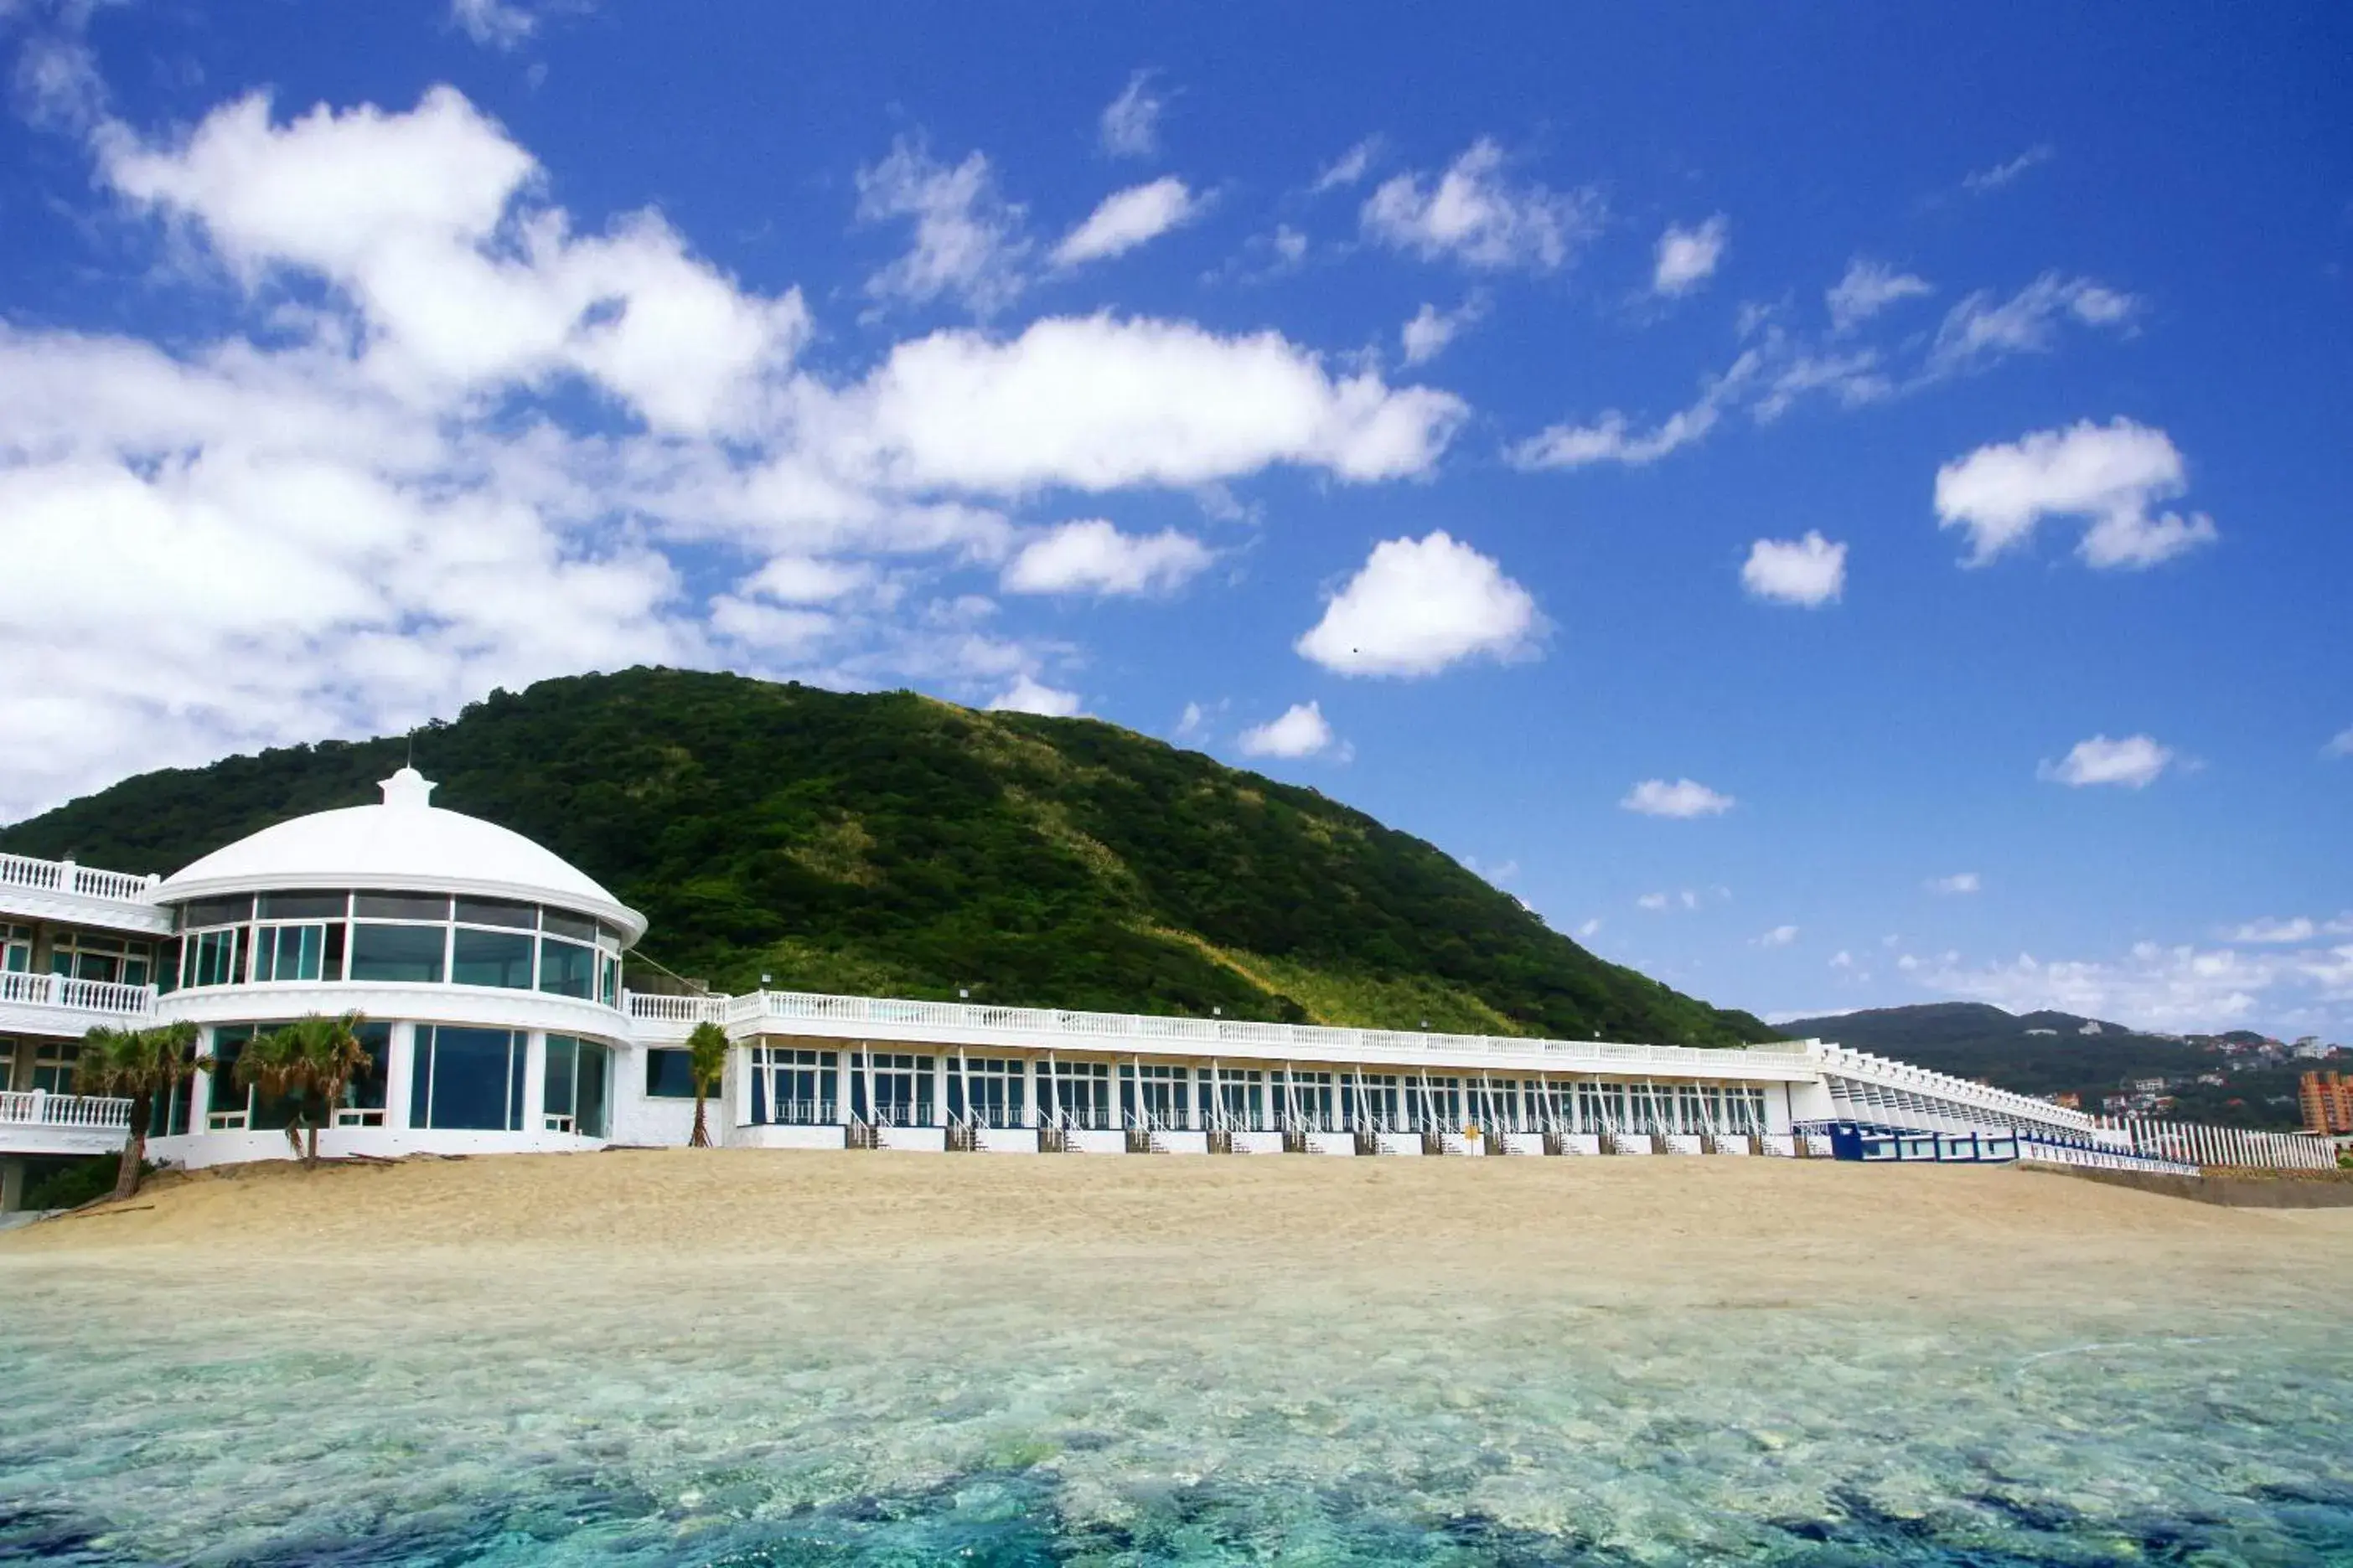
<path id="1" fill-rule="evenodd" d="M 1365 197 L 1365 233 L 1424 259 L 1480 270 L 1548 273 L 1600 223 L 1600 197 L 1504 176 L 1504 148 L 1475 141 L 1435 183 L 1398 174 Z"/>

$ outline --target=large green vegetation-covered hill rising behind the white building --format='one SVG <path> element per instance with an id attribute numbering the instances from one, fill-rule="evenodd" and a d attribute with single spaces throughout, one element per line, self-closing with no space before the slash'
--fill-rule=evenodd
<path id="1" fill-rule="evenodd" d="M 169 872 L 280 818 L 379 799 L 407 745 L 144 773 L 0 830 L 0 849 Z M 647 957 L 718 987 L 1774 1034 L 1595 959 L 1362 811 L 1094 719 L 626 670 L 494 693 L 419 731 L 414 755 L 435 804 L 598 877 L 652 919 Z"/>

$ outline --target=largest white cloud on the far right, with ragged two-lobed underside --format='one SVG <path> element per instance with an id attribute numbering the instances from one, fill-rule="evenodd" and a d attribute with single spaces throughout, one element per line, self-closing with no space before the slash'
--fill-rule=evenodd
<path id="1" fill-rule="evenodd" d="M 2085 517 L 2078 555 L 2092 567 L 2153 567 L 2214 541 L 2205 515 L 2153 517 L 2188 489 L 2181 451 L 2162 433 L 2113 418 L 2035 430 L 1979 447 L 1937 470 L 1937 524 L 1969 534 L 1969 567 L 2024 545 L 2042 517 Z"/>

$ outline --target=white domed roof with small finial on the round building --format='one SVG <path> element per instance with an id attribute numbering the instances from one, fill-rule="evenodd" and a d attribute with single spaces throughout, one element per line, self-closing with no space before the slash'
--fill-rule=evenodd
<path id="1" fill-rule="evenodd" d="M 381 806 L 344 806 L 273 823 L 162 879 L 160 903 L 268 889 L 388 889 L 527 898 L 645 936 L 645 917 L 520 832 L 431 804 L 416 769 L 384 780 Z"/>

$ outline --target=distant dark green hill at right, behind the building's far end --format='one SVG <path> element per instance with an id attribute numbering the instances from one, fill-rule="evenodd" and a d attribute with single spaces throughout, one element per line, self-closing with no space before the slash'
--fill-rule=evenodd
<path id="1" fill-rule="evenodd" d="M 2097 1023 L 2094 1034 L 2082 1027 Z M 2301 1067 L 2228 1060 L 2221 1051 L 2075 1013 L 2005 1013 L 1984 1001 L 1929 1001 L 1828 1018 L 1793 1018 L 1784 1034 L 1835 1039 L 1918 1067 L 1986 1079 L 2017 1093 L 2078 1093 L 2099 1110 L 2125 1079 L 2165 1079 L 2179 1121 L 2219 1126 L 2297 1126 Z M 2221 1037 L 2233 1039 L 2233 1037 Z M 2247 1037 L 2259 1039 L 2259 1037 Z M 2221 1074 L 2224 1084 L 2200 1084 Z"/>

